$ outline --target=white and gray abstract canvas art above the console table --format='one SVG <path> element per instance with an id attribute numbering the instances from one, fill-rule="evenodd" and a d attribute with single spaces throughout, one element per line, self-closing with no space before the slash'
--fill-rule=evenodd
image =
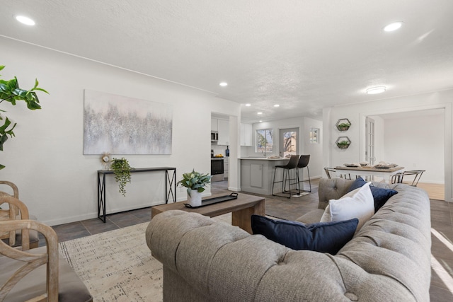
<path id="1" fill-rule="evenodd" d="M 171 106 L 85 90 L 84 154 L 171 154 Z"/>

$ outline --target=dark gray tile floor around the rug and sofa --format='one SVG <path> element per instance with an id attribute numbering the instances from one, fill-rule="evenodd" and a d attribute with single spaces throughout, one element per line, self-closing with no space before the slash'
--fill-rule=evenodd
<path id="1" fill-rule="evenodd" d="M 317 207 L 318 181 L 311 182 L 312 193 L 303 197 L 287 199 L 286 197 L 265 196 L 266 201 L 272 200 L 274 204 L 280 204 L 281 210 L 286 212 L 294 211 L 294 207 L 303 207 L 296 212 L 311 211 Z M 212 193 L 226 192 L 227 183 L 212 183 Z M 304 199 L 303 206 L 300 204 Z M 305 202 L 306 201 L 306 202 Z M 275 216 L 278 216 L 278 208 Z M 88 219 L 73 223 L 66 223 L 53 226 L 57 232 L 59 242 L 90 236 L 105 231 L 112 231 L 125 226 L 148 222 L 151 219 L 151 207 L 125 211 L 118 214 L 110 214 L 103 223 L 100 219 Z M 453 204 L 431 200 L 431 226 L 432 226 L 432 270 L 430 299 L 435 302 L 453 301 Z M 40 240 L 40 244 L 45 244 L 45 240 Z"/>

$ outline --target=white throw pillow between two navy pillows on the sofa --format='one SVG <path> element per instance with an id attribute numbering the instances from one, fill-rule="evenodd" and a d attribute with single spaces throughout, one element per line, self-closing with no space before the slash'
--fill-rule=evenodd
<path id="1" fill-rule="evenodd" d="M 321 222 L 344 221 L 357 218 L 357 231 L 374 215 L 374 199 L 367 182 L 362 187 L 352 190 L 340 199 L 331 199 L 321 217 Z M 356 232 L 357 232 L 356 231 Z"/>

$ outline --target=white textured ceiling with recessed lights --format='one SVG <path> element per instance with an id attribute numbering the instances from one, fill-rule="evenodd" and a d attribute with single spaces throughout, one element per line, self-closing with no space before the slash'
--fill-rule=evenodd
<path id="1" fill-rule="evenodd" d="M 452 0 L 0 4 L 4 37 L 251 103 L 243 122 L 320 118 L 324 107 L 453 88 Z M 403 27 L 385 33 L 393 21 Z M 366 95 L 371 86 L 387 91 Z"/>

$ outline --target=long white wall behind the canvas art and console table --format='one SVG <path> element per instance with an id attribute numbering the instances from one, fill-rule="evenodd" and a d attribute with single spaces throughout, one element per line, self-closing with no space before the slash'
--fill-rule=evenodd
<path id="1" fill-rule="evenodd" d="M 84 89 L 171 104 L 172 154 L 125 157 L 134 168 L 174 166 L 177 180 L 193 168 L 210 173 L 211 112 L 240 120 L 238 103 L 205 91 L 4 37 L 0 37 L 0 53 L 0 64 L 6 65 L 2 79 L 17 76 L 21 86 L 28 88 L 38 78 L 40 86 L 50 92 L 39 95 L 42 110 L 27 110 L 23 102 L 16 106 L 4 102 L 0 107 L 18 122 L 16 137 L 0 153 L 0 162 L 6 165 L 1 179 L 15 182 L 30 213 L 50 225 L 97 216 L 96 171 L 103 165 L 101 156 L 83 155 Z M 239 122 L 235 127 L 239 129 Z M 239 139 L 233 141 L 230 149 L 237 155 Z M 230 169 L 238 170 L 234 165 L 236 161 L 230 162 Z M 234 187 L 239 187 L 237 181 L 232 175 Z M 122 197 L 113 177 L 108 177 L 108 212 L 164 202 L 164 186 L 164 174 L 134 173 L 126 187 L 127 197 Z M 178 200 L 185 200 L 185 190 L 177 191 Z"/>

